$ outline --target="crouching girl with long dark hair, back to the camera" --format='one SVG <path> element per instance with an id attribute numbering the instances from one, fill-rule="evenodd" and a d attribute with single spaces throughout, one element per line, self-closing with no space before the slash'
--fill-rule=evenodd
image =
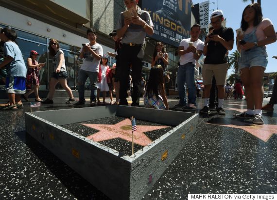
<path id="1" fill-rule="evenodd" d="M 146 83 L 144 95 L 145 108 L 169 109 L 165 95 L 163 68 L 160 65 L 152 67 L 149 80 Z"/>

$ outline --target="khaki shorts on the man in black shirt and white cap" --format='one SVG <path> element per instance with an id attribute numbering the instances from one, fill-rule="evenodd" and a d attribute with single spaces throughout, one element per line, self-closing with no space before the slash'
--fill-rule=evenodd
<path id="1" fill-rule="evenodd" d="M 211 85 L 212 77 L 215 77 L 216 85 L 225 85 L 228 63 L 204 64 L 202 70 L 203 85 Z"/>

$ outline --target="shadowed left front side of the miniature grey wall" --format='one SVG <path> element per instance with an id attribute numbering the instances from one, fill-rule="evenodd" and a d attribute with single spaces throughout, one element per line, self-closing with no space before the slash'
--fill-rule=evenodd
<path id="1" fill-rule="evenodd" d="M 29 113 L 26 131 L 111 199 L 129 199 L 131 164 L 110 148 Z"/>

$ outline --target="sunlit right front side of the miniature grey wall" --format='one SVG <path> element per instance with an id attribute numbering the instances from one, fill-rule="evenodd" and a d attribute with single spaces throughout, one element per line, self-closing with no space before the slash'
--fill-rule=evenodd
<path id="1" fill-rule="evenodd" d="M 136 152 L 136 159 L 131 164 L 130 199 L 143 198 L 156 183 L 195 132 L 197 118 L 198 115 L 193 115 L 186 122 L 155 140 L 149 149 Z M 152 182 L 148 183 L 150 176 Z"/>

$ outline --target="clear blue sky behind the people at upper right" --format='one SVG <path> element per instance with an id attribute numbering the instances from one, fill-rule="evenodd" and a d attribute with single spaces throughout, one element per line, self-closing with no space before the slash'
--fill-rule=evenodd
<path id="1" fill-rule="evenodd" d="M 192 0 L 193 4 L 201 3 L 207 0 Z M 256 2 L 257 0 L 255 0 Z M 234 30 L 236 37 L 236 29 L 240 28 L 242 21 L 242 11 L 251 3 L 251 0 L 243 2 L 242 0 L 209 0 L 209 15 L 213 12 L 212 9 L 220 9 L 223 11 L 224 18 L 226 19 L 226 27 L 231 27 Z M 214 2 L 214 3 L 212 3 Z M 277 31 L 277 15 L 275 12 L 277 7 L 277 0 L 261 0 L 261 9 L 263 18 L 269 18 Z M 229 55 L 237 50 L 237 46 L 234 44 L 234 48 L 229 52 Z M 268 64 L 265 72 L 277 72 L 277 59 L 272 56 L 277 56 L 277 42 L 267 45 Z M 228 70 L 228 76 L 232 74 L 231 70 Z"/>

